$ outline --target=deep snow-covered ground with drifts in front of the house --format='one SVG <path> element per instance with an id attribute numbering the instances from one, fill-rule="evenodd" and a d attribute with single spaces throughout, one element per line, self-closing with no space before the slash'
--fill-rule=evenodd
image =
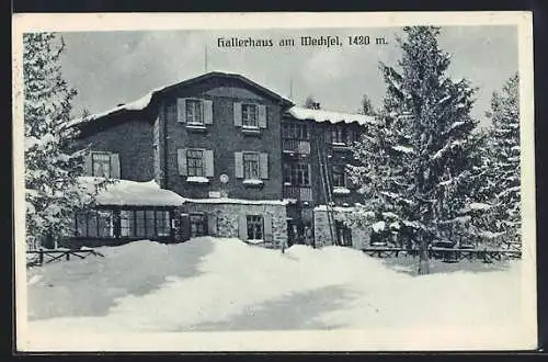
<path id="1" fill-rule="evenodd" d="M 31 331 L 472 331 L 512 328 L 522 316 L 520 261 L 465 261 L 453 271 L 436 263 L 415 276 L 411 257 L 380 260 L 343 247 L 282 253 L 203 237 L 99 250 L 105 258 L 28 270 Z"/>

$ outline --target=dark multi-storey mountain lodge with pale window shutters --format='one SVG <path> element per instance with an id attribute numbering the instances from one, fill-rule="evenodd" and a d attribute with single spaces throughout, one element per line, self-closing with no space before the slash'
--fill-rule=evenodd
<path id="1" fill-rule="evenodd" d="M 240 75 L 209 72 L 71 126 L 91 150 L 90 177 L 153 180 L 159 190 L 182 197 L 169 205 L 144 197 L 146 203 L 128 206 L 129 218 L 121 214 L 123 205 L 103 205 L 114 210 L 115 231 L 96 233 L 105 244 L 212 235 L 270 248 L 359 248 L 367 231 L 352 230 L 332 214 L 362 201 L 345 167 L 355 162 L 349 146 L 368 122 L 374 118 L 298 108 Z M 144 235 L 121 234 L 122 223 L 137 230 L 139 219 L 155 226 Z"/>

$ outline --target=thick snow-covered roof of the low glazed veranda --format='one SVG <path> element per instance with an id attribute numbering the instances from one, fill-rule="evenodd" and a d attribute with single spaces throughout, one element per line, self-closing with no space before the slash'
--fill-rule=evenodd
<path id="1" fill-rule="evenodd" d="M 96 185 L 104 179 L 83 177 L 79 178 L 84 192 L 93 194 Z M 116 180 L 106 184 L 95 196 L 96 205 L 125 206 L 180 206 L 185 200 L 178 193 L 160 189 L 156 181 L 136 182 Z"/>

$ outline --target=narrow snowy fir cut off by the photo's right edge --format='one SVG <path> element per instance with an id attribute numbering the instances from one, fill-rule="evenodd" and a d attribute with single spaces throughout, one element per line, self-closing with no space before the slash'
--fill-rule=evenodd
<path id="1" fill-rule="evenodd" d="M 511 77 L 491 100 L 493 228 L 506 242 L 521 242 L 520 78 Z"/>

